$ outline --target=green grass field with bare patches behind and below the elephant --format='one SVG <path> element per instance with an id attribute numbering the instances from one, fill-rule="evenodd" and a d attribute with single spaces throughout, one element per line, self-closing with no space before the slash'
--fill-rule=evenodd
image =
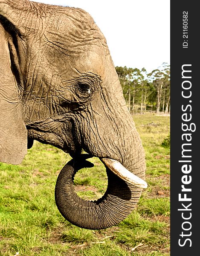
<path id="1" fill-rule="evenodd" d="M 170 150 L 169 116 L 133 117 L 146 154 L 146 181 L 139 204 L 116 227 L 85 230 L 70 224 L 54 200 L 58 173 L 70 157 L 34 142 L 23 163 L 0 163 L 0 256 L 169 256 Z M 75 175 L 75 190 L 84 199 L 101 197 L 107 187 L 97 158 L 92 169 Z"/>

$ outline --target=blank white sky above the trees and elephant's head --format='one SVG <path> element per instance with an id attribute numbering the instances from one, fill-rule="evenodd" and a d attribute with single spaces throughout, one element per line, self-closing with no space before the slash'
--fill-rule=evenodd
<path id="1" fill-rule="evenodd" d="M 34 0 L 89 12 L 103 32 L 115 66 L 170 64 L 170 0 Z"/>

